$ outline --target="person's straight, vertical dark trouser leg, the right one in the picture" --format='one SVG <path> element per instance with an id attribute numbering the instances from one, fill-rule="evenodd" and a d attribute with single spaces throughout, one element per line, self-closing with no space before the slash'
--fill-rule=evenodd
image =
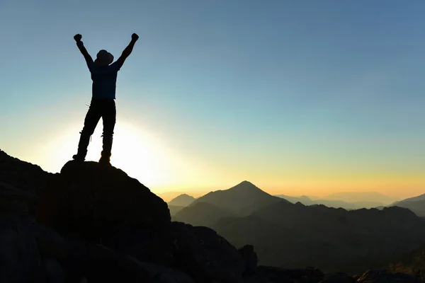
<path id="1" fill-rule="evenodd" d="M 105 100 L 102 112 L 103 120 L 103 151 L 102 158 L 111 157 L 113 129 L 115 128 L 116 108 L 115 100 Z"/>

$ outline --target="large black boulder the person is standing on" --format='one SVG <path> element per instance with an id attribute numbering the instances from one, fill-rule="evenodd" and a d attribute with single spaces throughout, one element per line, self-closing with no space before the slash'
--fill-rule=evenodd
<path id="1" fill-rule="evenodd" d="M 125 172 L 96 162 L 69 161 L 52 176 L 40 191 L 36 219 L 122 253 L 136 247 L 140 260 L 164 261 L 170 246 L 166 202 Z"/>

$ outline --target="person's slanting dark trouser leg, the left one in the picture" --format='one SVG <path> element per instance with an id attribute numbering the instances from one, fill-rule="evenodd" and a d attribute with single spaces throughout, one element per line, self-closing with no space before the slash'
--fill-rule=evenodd
<path id="1" fill-rule="evenodd" d="M 89 146 L 90 136 L 94 133 L 96 125 L 101 119 L 101 108 L 96 100 L 91 100 L 89 111 L 84 119 L 84 127 L 81 131 L 80 140 L 78 144 L 78 155 L 86 157 L 87 146 Z"/>

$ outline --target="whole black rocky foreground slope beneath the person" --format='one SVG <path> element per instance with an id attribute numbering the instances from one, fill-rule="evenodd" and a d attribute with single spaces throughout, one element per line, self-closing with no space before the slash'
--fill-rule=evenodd
<path id="1" fill-rule="evenodd" d="M 38 190 L 0 182 L 2 283 L 419 282 L 384 270 L 324 277 L 257 266 L 254 246 L 237 250 L 212 229 L 171 222 L 166 203 L 117 168 L 70 161 L 48 179 Z"/>

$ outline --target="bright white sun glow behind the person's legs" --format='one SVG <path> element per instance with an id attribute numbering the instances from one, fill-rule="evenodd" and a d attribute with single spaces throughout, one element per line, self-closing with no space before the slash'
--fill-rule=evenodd
<path id="1" fill-rule="evenodd" d="M 40 145 L 35 159 L 46 171 L 58 172 L 72 155 L 77 153 L 79 132 L 77 127 L 63 129 L 49 144 Z M 86 156 L 86 161 L 98 161 L 102 151 L 102 120 L 99 121 Z M 115 125 L 111 164 L 147 187 L 162 187 L 174 183 L 179 171 L 175 170 L 176 156 L 164 143 L 142 128 L 128 122 Z"/>

